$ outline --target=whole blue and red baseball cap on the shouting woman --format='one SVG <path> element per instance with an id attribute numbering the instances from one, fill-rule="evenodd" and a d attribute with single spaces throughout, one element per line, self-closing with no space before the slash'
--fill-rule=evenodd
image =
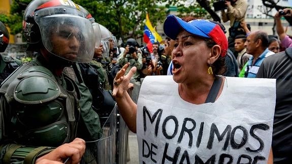
<path id="1" fill-rule="evenodd" d="M 218 24 L 212 23 L 209 20 L 195 19 L 186 22 L 177 16 L 169 15 L 164 21 L 163 28 L 165 35 L 172 40 L 176 40 L 182 28 L 194 36 L 214 41 L 221 47 L 220 56 L 224 57 L 227 53 L 228 41 L 223 30 Z"/>

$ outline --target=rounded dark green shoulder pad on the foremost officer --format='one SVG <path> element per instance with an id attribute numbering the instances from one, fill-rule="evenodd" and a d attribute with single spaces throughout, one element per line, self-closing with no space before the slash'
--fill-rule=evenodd
<path id="1" fill-rule="evenodd" d="M 60 88 L 53 74 L 46 68 L 35 65 L 18 76 L 14 99 L 22 104 L 40 104 L 60 96 Z"/>

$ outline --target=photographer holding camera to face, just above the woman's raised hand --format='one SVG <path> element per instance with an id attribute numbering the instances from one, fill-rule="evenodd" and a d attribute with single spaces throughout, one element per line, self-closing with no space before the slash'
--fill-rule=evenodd
<path id="1" fill-rule="evenodd" d="M 137 67 L 137 70 L 141 70 L 143 67 L 142 54 L 138 51 L 139 45 L 137 41 L 130 38 L 126 41 L 125 45 L 125 50 L 119 55 L 117 63 L 119 65 L 124 65 L 127 62 L 130 63 L 128 69 L 126 70 L 126 74 L 134 66 Z M 140 82 L 140 74 L 138 71 L 133 75 L 132 80 L 134 80 L 134 82 Z"/>

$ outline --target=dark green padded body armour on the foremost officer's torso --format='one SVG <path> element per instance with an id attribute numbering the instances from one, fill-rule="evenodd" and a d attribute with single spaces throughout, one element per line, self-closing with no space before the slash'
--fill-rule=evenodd
<path id="1" fill-rule="evenodd" d="M 73 141 L 80 117 L 80 93 L 76 87 L 68 76 L 56 77 L 44 67 L 42 56 L 22 65 L 0 89 L 2 144 L 12 140 L 20 145 L 55 147 Z M 5 153 L 3 158 L 11 159 L 18 149 Z"/>

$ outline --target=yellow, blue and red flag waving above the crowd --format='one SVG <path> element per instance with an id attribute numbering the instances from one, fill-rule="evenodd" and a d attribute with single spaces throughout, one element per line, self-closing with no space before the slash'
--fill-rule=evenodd
<path id="1" fill-rule="evenodd" d="M 147 44 L 147 48 L 150 52 L 152 52 L 152 44 L 155 42 L 161 42 L 162 38 L 159 36 L 159 34 L 156 32 L 156 30 L 153 28 L 148 13 L 146 14 L 146 22 L 144 26 L 144 36 L 143 36 L 144 42 Z"/>

